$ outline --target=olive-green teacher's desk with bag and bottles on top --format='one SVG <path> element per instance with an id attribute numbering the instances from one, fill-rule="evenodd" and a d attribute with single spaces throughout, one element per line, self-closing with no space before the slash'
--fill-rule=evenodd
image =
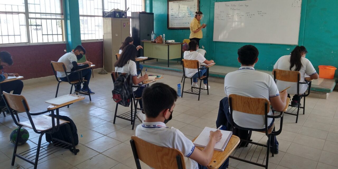
<path id="1" fill-rule="evenodd" d="M 144 56 L 155 59 L 181 59 L 182 64 L 182 43 L 152 43 L 151 41 L 141 41 L 143 43 Z"/>

